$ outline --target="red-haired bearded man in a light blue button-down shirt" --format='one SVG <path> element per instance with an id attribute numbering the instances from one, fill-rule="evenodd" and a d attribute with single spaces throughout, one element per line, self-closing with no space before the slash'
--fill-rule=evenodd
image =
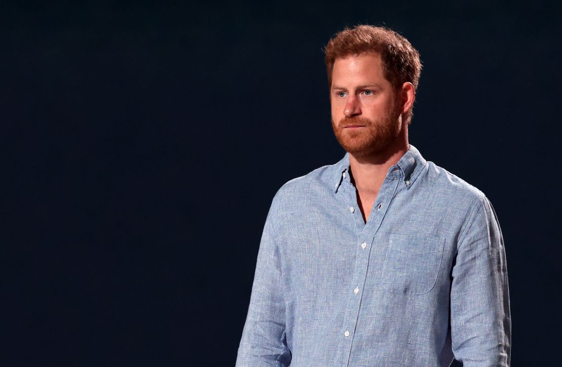
<path id="1" fill-rule="evenodd" d="M 325 60 L 347 153 L 275 195 L 237 366 L 509 366 L 492 205 L 408 143 L 418 52 L 360 25 Z"/>

